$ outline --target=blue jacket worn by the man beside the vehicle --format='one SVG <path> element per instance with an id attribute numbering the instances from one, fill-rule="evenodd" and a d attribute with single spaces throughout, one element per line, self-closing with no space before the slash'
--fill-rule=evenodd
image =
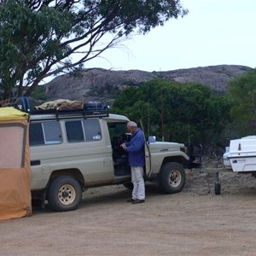
<path id="1" fill-rule="evenodd" d="M 143 131 L 138 128 L 132 134 L 131 141 L 125 143 L 126 151 L 129 153 L 129 164 L 132 167 L 145 166 L 145 137 Z"/>

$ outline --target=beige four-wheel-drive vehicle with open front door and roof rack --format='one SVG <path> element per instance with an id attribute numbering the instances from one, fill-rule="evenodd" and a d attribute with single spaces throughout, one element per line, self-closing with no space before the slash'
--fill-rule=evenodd
<path id="1" fill-rule="evenodd" d="M 33 198 L 43 205 L 48 201 L 55 211 L 69 211 L 79 207 L 85 189 L 120 183 L 131 187 L 127 153 L 120 148 L 130 137 L 129 119 L 105 110 L 30 114 Z M 159 183 L 166 193 L 181 191 L 184 168 L 193 166 L 195 157 L 189 160 L 181 143 L 150 141 L 145 145 L 145 180 Z"/>

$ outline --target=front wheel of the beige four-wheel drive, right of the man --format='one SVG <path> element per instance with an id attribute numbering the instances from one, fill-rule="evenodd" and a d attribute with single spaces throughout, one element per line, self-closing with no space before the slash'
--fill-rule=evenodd
<path id="1" fill-rule="evenodd" d="M 160 171 L 160 189 L 168 194 L 180 192 L 186 182 L 186 174 L 182 165 L 166 163 Z"/>

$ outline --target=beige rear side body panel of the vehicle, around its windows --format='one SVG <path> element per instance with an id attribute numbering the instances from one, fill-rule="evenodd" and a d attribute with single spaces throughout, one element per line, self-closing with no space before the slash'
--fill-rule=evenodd
<path id="1" fill-rule="evenodd" d="M 110 183 L 113 180 L 112 148 L 106 121 L 100 119 L 102 139 L 95 142 L 67 143 L 31 147 L 31 160 L 40 160 L 32 166 L 32 190 L 44 189 L 52 172 L 77 169 L 84 177 L 85 185 Z M 61 121 L 61 130 L 65 131 Z"/>

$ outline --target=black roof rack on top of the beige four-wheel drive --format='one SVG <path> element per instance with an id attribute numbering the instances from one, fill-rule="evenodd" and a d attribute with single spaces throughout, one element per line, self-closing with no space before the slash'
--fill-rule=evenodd
<path id="1" fill-rule="evenodd" d="M 100 104 L 100 105 L 99 105 Z M 103 118 L 108 117 L 108 106 L 104 103 L 88 102 L 84 104 L 84 108 L 53 108 L 53 109 L 37 109 L 30 112 L 32 120 L 44 119 L 77 119 L 77 118 Z M 35 115 L 40 115 L 36 118 Z M 44 117 L 43 117 L 44 115 Z"/>

